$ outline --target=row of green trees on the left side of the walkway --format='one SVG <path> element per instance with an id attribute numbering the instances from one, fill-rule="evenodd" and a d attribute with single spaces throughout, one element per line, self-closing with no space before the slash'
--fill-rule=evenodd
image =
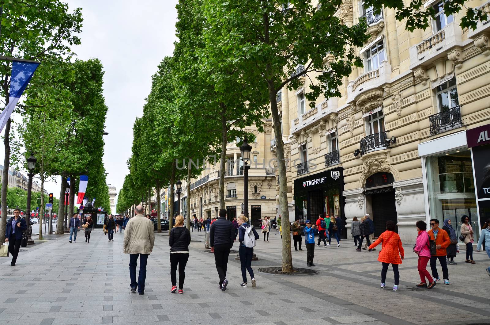
<path id="1" fill-rule="evenodd" d="M 96 197 L 98 205 L 109 211 L 110 201 L 102 163 L 107 107 L 102 96 L 103 67 L 96 58 L 75 60 L 73 45 L 80 44 L 81 9 L 70 12 L 60 0 L 6 1 L 1 21 L 1 54 L 38 60 L 38 67 L 25 90 L 25 100 L 17 106 L 23 121 L 5 127 L 5 159 L 1 190 L 0 241 L 6 224 L 7 172 L 10 163 L 26 169 L 26 158 L 37 159 L 34 173 L 44 182 L 61 176 L 57 207 L 64 216 L 64 197 L 70 177 L 69 214 L 75 210 L 74 193 L 78 176 L 89 176 L 86 196 Z M 8 103 L 11 65 L 0 64 L 1 96 Z M 56 193 L 57 194 L 57 193 Z M 41 196 L 39 204 L 46 203 Z M 56 210 L 55 210 L 56 211 Z M 41 220 L 42 222 L 42 220 Z M 63 218 L 58 218 L 57 234 L 63 233 Z M 39 238 L 43 238 L 40 230 Z"/>

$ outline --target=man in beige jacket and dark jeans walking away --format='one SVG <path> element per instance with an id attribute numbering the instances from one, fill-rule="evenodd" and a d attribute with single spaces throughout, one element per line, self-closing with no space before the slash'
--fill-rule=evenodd
<path id="1" fill-rule="evenodd" d="M 155 233 L 153 221 L 143 216 L 143 207 L 135 208 L 136 216 L 129 219 L 124 229 L 124 253 L 129 254 L 129 277 L 131 278 L 131 292 L 140 295 L 145 294 L 145 279 L 147 277 L 148 255 L 155 244 Z M 140 274 L 136 282 L 136 262 L 140 258 Z"/>

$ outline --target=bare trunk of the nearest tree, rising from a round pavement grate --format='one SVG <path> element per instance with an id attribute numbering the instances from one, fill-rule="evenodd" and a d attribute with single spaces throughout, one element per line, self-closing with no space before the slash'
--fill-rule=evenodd
<path id="1" fill-rule="evenodd" d="M 282 141 L 281 120 L 277 109 L 276 91 L 273 81 L 269 81 L 270 110 L 272 113 L 273 129 L 276 139 L 277 166 L 279 167 L 279 213 L 281 216 L 282 233 L 282 271 L 293 271 L 291 257 L 291 236 L 288 210 L 288 183 L 286 177 L 286 161 L 284 159 L 284 142 Z"/>

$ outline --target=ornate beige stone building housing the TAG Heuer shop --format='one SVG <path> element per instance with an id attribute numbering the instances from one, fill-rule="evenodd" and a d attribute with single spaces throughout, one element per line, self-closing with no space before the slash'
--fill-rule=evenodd
<path id="1" fill-rule="evenodd" d="M 474 229 L 490 217 L 489 198 L 477 195 L 486 185 L 477 184 L 473 167 L 476 154 L 490 157 L 490 131 L 470 144 L 470 130 L 485 132 L 490 118 L 490 24 L 462 29 L 442 1 L 424 5 L 436 8 L 436 19 L 408 32 L 392 9 L 374 14 L 361 1 L 345 1 L 338 12 L 344 24 L 361 17 L 369 24 L 371 38 L 356 49 L 364 67 L 345 79 L 340 98 L 320 97 L 315 108 L 304 96 L 314 75 L 278 94 L 292 160 L 291 219 L 338 214 L 349 227 L 352 217 L 369 213 L 376 237 L 393 220 L 411 243 L 420 219 L 450 218 L 459 231 L 463 215 Z M 490 12 L 485 0 L 467 5 Z"/>

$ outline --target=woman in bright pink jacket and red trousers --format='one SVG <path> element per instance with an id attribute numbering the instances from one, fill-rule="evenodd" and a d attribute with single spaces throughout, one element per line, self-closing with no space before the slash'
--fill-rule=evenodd
<path id="1" fill-rule="evenodd" d="M 418 255 L 417 270 L 420 275 L 420 283 L 417 284 L 418 288 L 432 289 L 436 285 L 436 281 L 432 278 L 427 271 L 427 262 L 430 260 L 430 242 L 429 234 L 427 234 L 427 224 L 418 220 L 417 223 L 417 241 L 414 247 L 414 252 Z M 425 282 L 425 278 L 429 280 L 429 285 Z"/>

